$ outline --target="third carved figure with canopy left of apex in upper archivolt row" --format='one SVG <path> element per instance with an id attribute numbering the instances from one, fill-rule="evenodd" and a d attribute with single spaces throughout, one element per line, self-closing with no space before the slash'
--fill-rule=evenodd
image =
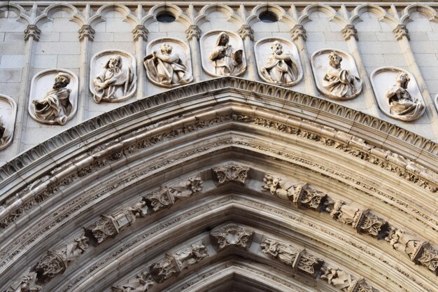
<path id="1" fill-rule="evenodd" d="M 88 248 L 88 237 L 81 236 L 66 244 L 62 249 L 48 251 L 33 268 L 38 283 L 47 283 L 57 274 L 62 274 L 73 260 Z"/>

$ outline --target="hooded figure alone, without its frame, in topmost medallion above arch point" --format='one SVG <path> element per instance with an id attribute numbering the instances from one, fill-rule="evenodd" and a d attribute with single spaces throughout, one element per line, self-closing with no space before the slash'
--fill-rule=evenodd
<path id="1" fill-rule="evenodd" d="M 221 32 L 209 56 L 214 62 L 215 74 L 219 76 L 235 76 L 239 74 L 243 64 L 243 50 L 233 51 L 228 42 L 228 34 Z"/>

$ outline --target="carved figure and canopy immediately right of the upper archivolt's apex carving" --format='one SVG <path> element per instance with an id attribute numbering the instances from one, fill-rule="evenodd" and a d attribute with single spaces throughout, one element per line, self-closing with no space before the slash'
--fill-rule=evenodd
<path id="1" fill-rule="evenodd" d="M 283 200 L 291 201 L 299 208 L 309 208 L 320 211 L 327 194 L 315 190 L 307 183 L 285 186 L 281 178 L 266 174 L 263 179 L 263 190 L 269 191 Z"/>

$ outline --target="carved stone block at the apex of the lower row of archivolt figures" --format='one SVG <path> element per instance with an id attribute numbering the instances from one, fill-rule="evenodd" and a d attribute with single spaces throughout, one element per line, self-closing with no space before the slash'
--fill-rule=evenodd
<path id="1" fill-rule="evenodd" d="M 239 225 L 229 224 L 210 233 L 213 246 L 218 251 L 227 246 L 237 246 L 248 249 L 253 241 L 254 231 Z"/>

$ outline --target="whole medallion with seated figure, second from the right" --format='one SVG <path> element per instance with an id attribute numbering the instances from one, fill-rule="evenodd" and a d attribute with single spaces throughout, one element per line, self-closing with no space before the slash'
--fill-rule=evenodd
<path id="1" fill-rule="evenodd" d="M 312 55 L 311 63 L 317 88 L 326 97 L 346 100 L 357 97 L 362 91 L 362 81 L 351 55 L 341 50 L 324 49 Z"/>

